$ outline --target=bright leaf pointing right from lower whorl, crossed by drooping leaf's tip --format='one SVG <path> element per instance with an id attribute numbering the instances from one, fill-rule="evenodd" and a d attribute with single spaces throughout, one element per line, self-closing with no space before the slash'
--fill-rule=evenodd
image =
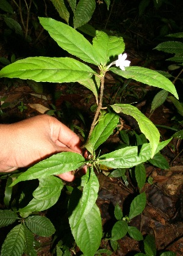
<path id="1" fill-rule="evenodd" d="M 157 146 L 156 152 L 162 150 L 171 139 L 160 142 Z M 116 150 L 106 155 L 99 156 L 98 164 L 104 164 L 104 166 L 117 168 L 131 168 L 137 166 L 137 164 L 144 163 L 151 158 L 151 146 L 149 144 L 143 144 L 142 147 L 126 147 Z"/>

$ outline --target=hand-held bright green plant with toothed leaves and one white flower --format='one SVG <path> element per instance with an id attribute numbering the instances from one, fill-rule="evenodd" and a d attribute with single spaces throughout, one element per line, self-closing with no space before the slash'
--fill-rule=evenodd
<path id="1" fill-rule="evenodd" d="M 126 54 L 121 54 L 124 52 L 122 37 L 109 36 L 105 32 L 96 31 L 93 45 L 91 45 L 83 35 L 66 24 L 51 18 L 40 18 L 40 23 L 60 47 L 80 58 L 82 62 L 71 57 L 28 57 L 2 68 L 0 77 L 33 79 L 37 82 L 79 82 L 94 93 L 98 107 L 91 123 L 88 138 L 83 146 L 89 152 L 87 159 L 73 152 L 53 155 L 30 167 L 13 180 L 10 186 L 12 187 L 20 181 L 38 179 L 39 185 L 32 194 L 32 200 L 25 207 L 18 208 L 21 218 L 29 218 L 28 216 L 34 211 L 46 210 L 59 199 L 63 183 L 61 180 L 57 182 L 57 178 L 52 175 L 63 174 L 70 170 L 77 172 L 83 166 L 87 166 L 87 174 L 81 178 L 81 185 L 72 189 L 68 204 L 68 219 L 77 246 L 84 255 L 93 256 L 98 250 L 102 238 L 101 216 L 96 205 L 99 182 L 94 167 L 99 170 L 101 164 L 113 169 L 137 166 L 153 158 L 171 141 L 169 139 L 159 142 L 160 135 L 156 126 L 131 104 L 113 104 L 100 115 L 106 72 L 112 71 L 126 79 L 135 79 L 150 86 L 160 87 L 168 90 L 176 98 L 178 98 L 178 94 L 171 81 L 156 71 L 142 67 L 129 67 Z M 118 60 L 115 60 L 117 56 Z M 85 62 L 96 65 L 99 74 Z M 117 65 L 117 67 L 111 67 L 111 65 Z M 140 146 L 126 146 L 114 152 L 96 155 L 98 147 L 107 140 L 117 127 L 118 113 L 120 112 L 131 115 L 137 120 L 140 130 L 145 134 L 149 143 L 143 143 Z M 145 194 L 142 193 L 137 198 L 141 197 L 144 198 L 143 202 L 145 202 Z M 142 212 L 142 208 L 137 214 Z M 132 212 L 131 210 L 129 213 L 129 219 L 135 216 Z M 4 243 L 7 244 L 7 240 Z M 23 251 L 23 245 L 21 247 L 21 251 Z"/>

